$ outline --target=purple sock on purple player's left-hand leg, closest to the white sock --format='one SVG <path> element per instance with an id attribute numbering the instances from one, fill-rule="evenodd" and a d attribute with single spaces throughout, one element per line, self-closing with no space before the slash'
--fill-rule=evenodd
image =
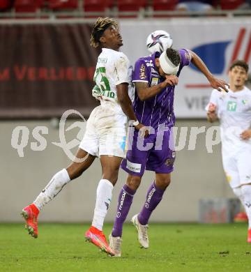
<path id="1" fill-rule="evenodd" d="M 114 237 L 122 236 L 123 222 L 126 220 L 135 192 L 136 190 L 130 189 L 126 184 L 121 189 L 114 227 L 112 229 L 112 236 Z"/>

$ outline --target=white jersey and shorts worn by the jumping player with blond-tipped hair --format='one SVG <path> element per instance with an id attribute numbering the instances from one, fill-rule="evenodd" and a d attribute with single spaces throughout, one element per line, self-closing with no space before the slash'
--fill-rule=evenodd
<path id="1" fill-rule="evenodd" d="M 93 96 L 100 100 L 100 106 L 91 112 L 86 133 L 79 145 L 93 156 L 124 157 L 128 118 L 119 105 L 116 85 L 128 83 L 128 95 L 132 99 L 131 71 L 125 54 L 102 48 L 94 75 L 96 86 L 93 88 Z"/>

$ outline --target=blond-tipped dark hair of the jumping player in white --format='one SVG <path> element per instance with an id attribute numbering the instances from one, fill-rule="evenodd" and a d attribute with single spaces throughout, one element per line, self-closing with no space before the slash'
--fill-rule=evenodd
<path id="1" fill-rule="evenodd" d="M 118 27 L 118 23 L 109 17 L 98 17 L 97 21 L 93 25 L 93 30 L 91 31 L 91 39 L 90 44 L 92 47 L 96 48 L 100 44 L 100 38 L 102 33 L 104 33 L 105 29 L 110 26 Z"/>

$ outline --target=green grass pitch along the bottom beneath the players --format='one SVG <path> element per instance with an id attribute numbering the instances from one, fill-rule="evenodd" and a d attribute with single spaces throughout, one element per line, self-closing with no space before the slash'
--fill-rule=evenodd
<path id="1" fill-rule="evenodd" d="M 89 225 L 40 224 L 39 237 L 23 225 L 0 225 L 0 271 L 251 271 L 247 225 L 151 224 L 150 248 L 139 248 L 125 225 L 121 258 L 84 241 Z M 105 225 L 109 234 L 112 225 Z"/>

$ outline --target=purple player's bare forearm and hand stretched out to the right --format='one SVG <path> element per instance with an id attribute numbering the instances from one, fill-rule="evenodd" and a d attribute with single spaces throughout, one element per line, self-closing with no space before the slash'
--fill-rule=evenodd
<path id="1" fill-rule="evenodd" d="M 201 71 L 201 73 L 206 76 L 208 82 L 211 84 L 213 89 L 217 89 L 218 91 L 224 90 L 228 92 L 227 86 L 229 86 L 229 84 L 227 84 L 225 80 L 219 80 L 218 78 L 214 77 L 213 74 L 206 67 L 204 61 L 202 61 L 202 59 L 197 54 L 195 54 L 195 52 L 189 50 L 189 53 L 191 56 L 192 64 L 194 64 Z"/>

